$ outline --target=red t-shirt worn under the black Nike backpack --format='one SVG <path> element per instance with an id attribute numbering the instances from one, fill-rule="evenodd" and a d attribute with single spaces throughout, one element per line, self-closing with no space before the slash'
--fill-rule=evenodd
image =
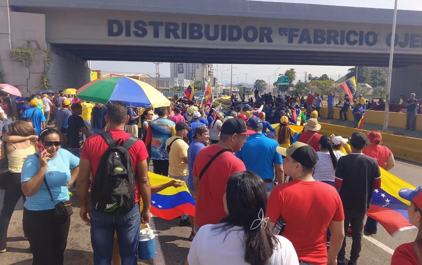
<path id="1" fill-rule="evenodd" d="M 109 130 L 114 140 L 123 139 L 126 141 L 131 135 L 123 130 Z M 102 154 L 107 150 L 108 145 L 102 139 L 101 135 L 93 135 L 86 138 L 84 147 L 82 148 L 81 159 L 87 159 L 91 162 L 92 181 L 97 172 L 99 162 Z M 137 174 L 137 164 L 148 158 L 147 148 L 143 141 L 136 141 L 136 143 L 129 149 L 130 158 L 132 159 L 133 170 Z M 139 194 L 138 179 L 135 180 L 135 202 L 139 201 L 141 195 Z"/>

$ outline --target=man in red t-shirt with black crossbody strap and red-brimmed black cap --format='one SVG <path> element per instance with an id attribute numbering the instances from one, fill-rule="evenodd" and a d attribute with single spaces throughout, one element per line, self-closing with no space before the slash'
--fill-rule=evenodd
<path id="1" fill-rule="evenodd" d="M 223 206 L 227 180 L 236 172 L 246 171 L 242 160 L 233 153 L 241 150 L 247 134 L 254 133 L 247 130 L 242 119 L 228 119 L 221 126 L 220 141 L 203 148 L 196 157 L 193 164 L 196 230 L 206 224 L 218 224 L 227 216 Z"/>

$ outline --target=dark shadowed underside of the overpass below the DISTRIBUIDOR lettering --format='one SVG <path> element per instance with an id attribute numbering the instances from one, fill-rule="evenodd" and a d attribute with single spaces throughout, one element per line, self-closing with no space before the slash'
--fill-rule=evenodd
<path id="1" fill-rule="evenodd" d="M 388 54 L 377 53 L 78 44 L 56 44 L 56 46 L 91 61 L 378 67 L 387 67 L 389 61 Z M 395 67 L 421 64 L 422 54 L 397 54 L 394 57 Z"/>

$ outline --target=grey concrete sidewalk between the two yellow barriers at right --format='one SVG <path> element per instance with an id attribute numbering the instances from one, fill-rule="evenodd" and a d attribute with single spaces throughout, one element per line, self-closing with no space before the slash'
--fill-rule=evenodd
<path id="1" fill-rule="evenodd" d="M 318 120 L 318 122 L 320 123 L 329 123 L 329 124 L 334 124 L 334 125 L 339 125 L 339 126 L 345 126 L 345 127 L 349 127 L 349 128 L 353 128 L 354 126 L 354 121 L 351 120 L 350 118 L 352 117 L 348 117 L 348 120 L 343 121 L 343 120 L 339 120 L 339 119 L 327 119 L 327 118 L 320 118 Z M 393 125 L 393 124 L 391 124 Z M 363 130 L 367 130 L 367 131 L 382 131 L 382 125 L 378 125 L 378 124 L 371 124 L 371 123 L 363 123 Z M 406 137 L 413 137 L 413 138 L 419 138 L 422 139 L 422 131 L 406 131 L 404 128 L 398 128 L 398 127 L 392 127 L 392 126 L 388 126 L 388 131 L 393 132 L 394 135 L 400 135 L 400 136 L 406 136 Z"/>

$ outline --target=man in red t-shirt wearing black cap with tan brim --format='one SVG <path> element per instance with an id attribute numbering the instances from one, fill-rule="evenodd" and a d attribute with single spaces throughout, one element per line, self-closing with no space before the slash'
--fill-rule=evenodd
<path id="1" fill-rule="evenodd" d="M 344 238 L 343 207 L 337 190 L 312 177 L 318 154 L 311 146 L 296 142 L 287 149 L 277 147 L 277 152 L 284 157 L 284 173 L 293 181 L 275 186 L 269 195 L 266 216 L 270 230 L 276 223 L 278 230 L 279 220 L 284 219 L 281 235 L 292 242 L 300 262 L 335 265 Z M 331 231 L 328 254 L 327 228 Z"/>

